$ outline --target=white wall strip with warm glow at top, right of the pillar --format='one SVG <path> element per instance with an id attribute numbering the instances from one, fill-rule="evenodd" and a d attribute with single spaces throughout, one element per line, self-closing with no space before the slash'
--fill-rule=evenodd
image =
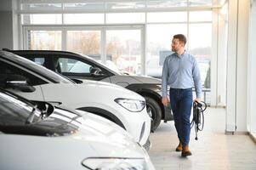
<path id="1" fill-rule="evenodd" d="M 236 63 L 236 127 L 247 131 L 247 58 L 250 0 L 239 0 Z"/>

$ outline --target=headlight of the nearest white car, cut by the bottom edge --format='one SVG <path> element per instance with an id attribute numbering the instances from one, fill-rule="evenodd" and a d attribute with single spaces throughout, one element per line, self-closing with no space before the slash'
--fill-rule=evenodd
<path id="1" fill-rule="evenodd" d="M 82 161 L 91 170 L 145 170 L 144 159 L 131 158 L 88 158 Z"/>

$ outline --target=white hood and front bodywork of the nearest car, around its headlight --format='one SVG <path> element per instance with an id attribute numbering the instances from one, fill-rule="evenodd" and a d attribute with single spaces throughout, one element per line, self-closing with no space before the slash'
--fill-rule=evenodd
<path id="1" fill-rule="evenodd" d="M 84 169 L 81 162 L 95 157 L 143 158 L 154 169 L 145 150 L 114 123 L 83 112 L 82 116 L 56 108 L 44 121 L 36 123 L 55 134 L 32 136 L 0 135 L 3 169 Z M 71 129 L 70 133 L 60 131 Z M 10 159 L 11 158 L 11 159 Z M 42 163 L 43 162 L 43 163 Z"/>

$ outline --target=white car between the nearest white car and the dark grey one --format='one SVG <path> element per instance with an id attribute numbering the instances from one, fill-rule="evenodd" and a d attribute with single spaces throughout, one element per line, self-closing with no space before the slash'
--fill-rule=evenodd
<path id="1" fill-rule="evenodd" d="M 116 122 L 148 147 L 151 118 L 145 99 L 111 83 L 76 84 L 29 59 L 0 51 L 0 87 L 26 99 L 89 111 Z"/>

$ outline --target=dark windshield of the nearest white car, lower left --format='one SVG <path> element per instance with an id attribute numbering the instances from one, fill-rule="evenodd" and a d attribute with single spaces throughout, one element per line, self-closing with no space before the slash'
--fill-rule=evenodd
<path id="1" fill-rule="evenodd" d="M 12 94 L 0 92 L 0 119 L 4 120 L 5 124 L 24 123 L 32 112 L 34 121 L 38 121 L 41 111 L 35 108 L 35 105 L 26 103 Z"/>

